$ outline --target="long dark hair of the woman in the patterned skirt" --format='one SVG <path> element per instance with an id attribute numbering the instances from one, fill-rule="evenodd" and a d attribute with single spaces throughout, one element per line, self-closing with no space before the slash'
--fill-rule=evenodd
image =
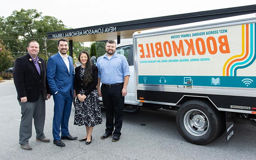
<path id="1" fill-rule="evenodd" d="M 84 78 L 83 78 L 83 81 L 84 81 L 84 85 L 86 86 L 87 84 L 89 84 L 90 82 L 92 82 L 92 62 L 91 62 L 91 57 L 90 57 L 90 54 L 87 52 L 87 51 L 82 51 L 79 53 L 79 62 L 81 62 L 80 60 L 80 56 L 82 53 L 85 53 L 87 54 L 87 62 L 85 64 L 85 70 L 84 70 Z"/>

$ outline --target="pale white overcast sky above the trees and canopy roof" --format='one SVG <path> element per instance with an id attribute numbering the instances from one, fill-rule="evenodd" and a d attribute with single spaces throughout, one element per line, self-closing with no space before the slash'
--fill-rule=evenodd
<path id="1" fill-rule="evenodd" d="M 36 9 L 71 28 L 256 4 L 255 0 L 3 0 L 0 16 Z M 86 45 L 86 44 L 85 44 Z"/>

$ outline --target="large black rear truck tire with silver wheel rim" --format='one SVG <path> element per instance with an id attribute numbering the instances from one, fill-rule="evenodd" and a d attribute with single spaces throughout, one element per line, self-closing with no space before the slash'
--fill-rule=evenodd
<path id="1" fill-rule="evenodd" d="M 176 125 L 185 140 L 197 145 L 211 143 L 223 128 L 218 110 L 202 100 L 183 103 L 176 116 Z"/>

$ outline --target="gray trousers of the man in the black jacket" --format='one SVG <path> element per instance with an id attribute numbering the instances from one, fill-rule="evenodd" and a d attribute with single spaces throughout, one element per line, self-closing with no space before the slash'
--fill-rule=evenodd
<path id="1" fill-rule="evenodd" d="M 21 121 L 20 121 L 20 145 L 28 144 L 28 140 L 32 136 L 32 121 L 36 129 L 36 139 L 44 138 L 44 120 L 45 120 L 45 100 L 41 93 L 37 102 L 21 103 Z"/>

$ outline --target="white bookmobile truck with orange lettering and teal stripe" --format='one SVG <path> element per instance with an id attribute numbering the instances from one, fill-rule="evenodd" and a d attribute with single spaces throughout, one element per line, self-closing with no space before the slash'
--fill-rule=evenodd
<path id="1" fill-rule="evenodd" d="M 126 104 L 178 110 L 184 139 L 205 145 L 256 119 L 255 14 L 135 32 Z"/>

